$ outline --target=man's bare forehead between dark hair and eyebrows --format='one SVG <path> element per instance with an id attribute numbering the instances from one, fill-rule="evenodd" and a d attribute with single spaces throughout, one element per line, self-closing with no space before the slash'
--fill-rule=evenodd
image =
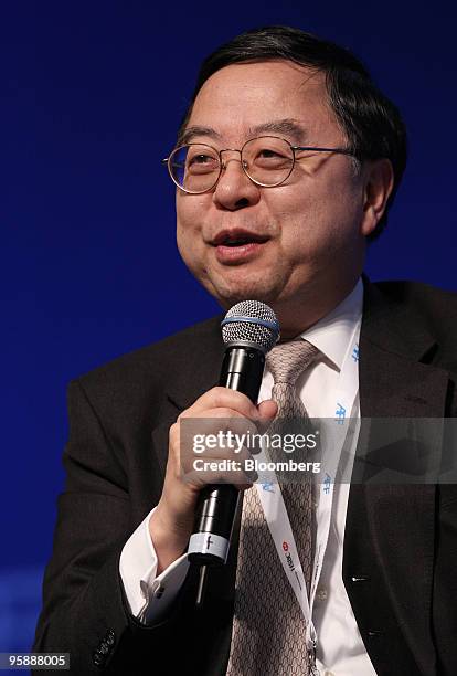
<path id="1" fill-rule="evenodd" d="M 187 127 L 209 127 L 235 139 L 275 119 L 297 122 L 306 136 L 338 130 L 325 74 L 288 61 L 226 66 L 200 89 Z"/>

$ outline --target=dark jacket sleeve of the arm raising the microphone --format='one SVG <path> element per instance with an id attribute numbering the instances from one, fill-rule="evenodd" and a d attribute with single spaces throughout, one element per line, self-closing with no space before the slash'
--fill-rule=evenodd
<path id="1" fill-rule="evenodd" d="M 166 622 L 148 627 L 128 614 L 119 557 L 134 528 L 124 452 L 78 381 L 68 388 L 68 412 L 66 485 L 33 651 L 70 653 L 75 675 L 164 674 L 160 655 L 172 637 L 185 640 L 185 612 L 178 599 Z"/>

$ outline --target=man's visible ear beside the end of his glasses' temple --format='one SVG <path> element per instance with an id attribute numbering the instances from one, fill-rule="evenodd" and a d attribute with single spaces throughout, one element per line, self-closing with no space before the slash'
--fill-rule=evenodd
<path id="1" fill-rule="evenodd" d="M 394 184 L 391 160 L 368 160 L 363 167 L 363 218 L 361 234 L 370 235 L 376 229 L 385 211 Z"/>

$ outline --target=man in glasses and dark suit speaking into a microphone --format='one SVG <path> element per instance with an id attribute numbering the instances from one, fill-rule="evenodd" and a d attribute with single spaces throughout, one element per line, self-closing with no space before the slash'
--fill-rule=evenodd
<path id="1" fill-rule="evenodd" d="M 456 416 L 455 295 L 360 279 L 405 156 L 396 108 L 337 45 L 273 27 L 234 39 L 202 66 L 168 160 L 179 251 L 223 308 L 267 303 L 285 346 L 311 346 L 313 361 L 296 383 L 311 416 L 334 414 L 351 353 L 354 416 Z M 284 583 L 275 557 L 259 549 L 268 564 L 246 577 L 256 486 L 242 485 L 227 564 L 212 571 L 195 609 L 183 552 L 202 480 L 183 480 L 179 422 L 268 423 L 278 410 L 268 363 L 258 405 L 214 387 L 219 321 L 72 383 L 66 489 L 35 649 L 70 652 L 74 674 L 455 674 L 453 486 L 336 487 L 307 620 L 287 584 L 286 610 L 268 603 Z M 268 534 L 262 518 L 258 534 Z M 319 513 L 316 522 L 319 537 Z M 264 594 L 249 596 L 253 575 Z M 304 637 L 294 645 L 291 623 Z M 258 636 L 267 638 L 257 645 Z"/>

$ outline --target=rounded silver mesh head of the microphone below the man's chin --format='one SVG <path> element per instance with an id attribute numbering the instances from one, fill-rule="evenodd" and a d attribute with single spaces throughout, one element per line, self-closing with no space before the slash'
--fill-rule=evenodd
<path id="1" fill-rule="evenodd" d="M 279 324 L 276 315 L 268 305 L 259 300 L 237 303 L 222 321 L 222 339 L 225 346 L 248 342 L 263 352 L 268 352 L 278 338 Z"/>

